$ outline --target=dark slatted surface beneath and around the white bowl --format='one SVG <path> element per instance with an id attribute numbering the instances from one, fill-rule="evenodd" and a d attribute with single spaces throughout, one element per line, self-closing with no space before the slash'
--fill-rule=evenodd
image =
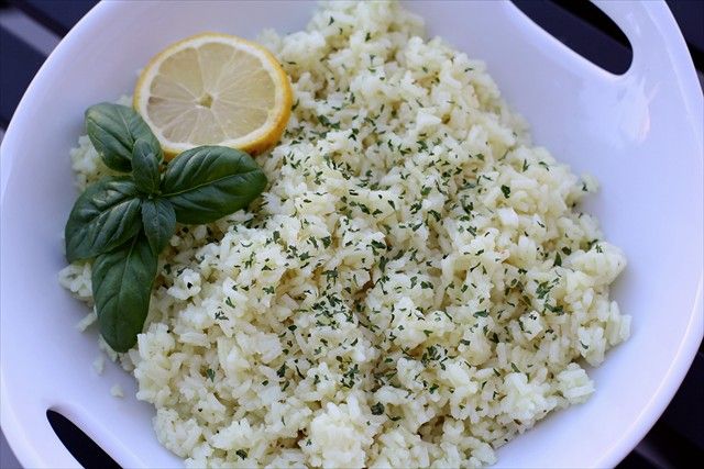
<path id="1" fill-rule="evenodd" d="M 513 1 L 541 27 L 587 59 L 617 74 L 628 69 L 631 58 L 628 40 L 587 1 Z M 46 54 L 96 3 L 95 0 L 0 0 L 0 132 L 7 129 Z M 680 24 L 702 80 L 704 1 L 668 0 L 668 4 Z M 64 444 L 85 467 L 119 467 L 62 415 L 50 413 L 48 418 Z M 3 448 L 7 451 L 7 447 Z M 3 468 L 8 460 L 2 458 L 6 461 Z M 692 368 L 670 406 L 618 468 L 685 468 L 702 461 L 704 351 L 700 345 Z"/>

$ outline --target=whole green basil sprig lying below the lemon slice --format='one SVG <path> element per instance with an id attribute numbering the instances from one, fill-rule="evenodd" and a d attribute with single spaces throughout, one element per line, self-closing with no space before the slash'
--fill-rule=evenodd
<path id="1" fill-rule="evenodd" d="M 76 200 L 66 223 L 66 258 L 94 259 L 100 334 L 127 351 L 144 326 L 157 258 L 176 222 L 211 223 L 246 208 L 266 176 L 246 153 L 222 146 L 184 152 L 162 175 L 158 141 L 124 105 L 89 108 L 86 129 L 105 164 L 129 175 L 102 178 Z"/>

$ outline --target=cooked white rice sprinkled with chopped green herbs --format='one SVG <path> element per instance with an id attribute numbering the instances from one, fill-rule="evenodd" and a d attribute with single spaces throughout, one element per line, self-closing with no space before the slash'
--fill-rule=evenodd
<path id="1" fill-rule="evenodd" d="M 262 42 L 294 90 L 270 186 L 179 226 L 136 347 L 102 345 L 162 444 L 190 467 L 477 467 L 588 399 L 630 326 L 625 257 L 578 208 L 596 182 L 395 2 Z M 110 172 L 86 136 L 72 160 L 80 189 Z M 61 281 L 92 304 L 89 265 Z"/>

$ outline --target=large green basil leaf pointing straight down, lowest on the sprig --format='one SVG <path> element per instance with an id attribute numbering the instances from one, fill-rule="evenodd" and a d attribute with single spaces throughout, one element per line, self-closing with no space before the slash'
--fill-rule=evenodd
<path id="1" fill-rule="evenodd" d="M 92 298 L 100 334 L 116 351 L 136 343 L 150 310 L 156 254 L 143 233 L 92 264 Z"/>

